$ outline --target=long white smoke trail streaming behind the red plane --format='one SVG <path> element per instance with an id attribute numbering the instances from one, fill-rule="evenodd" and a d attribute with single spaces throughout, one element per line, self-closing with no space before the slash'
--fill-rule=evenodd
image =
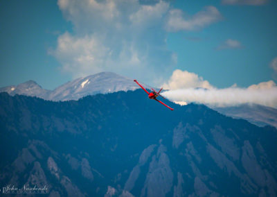
<path id="1" fill-rule="evenodd" d="M 170 101 L 203 103 L 214 107 L 227 107 L 255 103 L 277 108 L 277 87 L 267 89 L 229 87 L 225 89 L 176 89 L 162 93 Z"/>

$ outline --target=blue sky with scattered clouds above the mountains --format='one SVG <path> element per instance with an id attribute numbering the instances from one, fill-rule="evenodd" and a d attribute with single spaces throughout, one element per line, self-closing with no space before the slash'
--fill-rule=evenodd
<path id="1" fill-rule="evenodd" d="M 150 85 L 176 70 L 218 88 L 276 82 L 276 1 L 91 2 L 0 1 L 0 87 L 99 71 Z"/>

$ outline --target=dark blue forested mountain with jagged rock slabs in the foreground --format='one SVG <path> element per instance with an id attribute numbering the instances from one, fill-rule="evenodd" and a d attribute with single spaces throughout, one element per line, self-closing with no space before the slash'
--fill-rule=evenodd
<path id="1" fill-rule="evenodd" d="M 277 130 L 142 90 L 51 102 L 0 94 L 0 182 L 49 196 L 276 196 Z"/>

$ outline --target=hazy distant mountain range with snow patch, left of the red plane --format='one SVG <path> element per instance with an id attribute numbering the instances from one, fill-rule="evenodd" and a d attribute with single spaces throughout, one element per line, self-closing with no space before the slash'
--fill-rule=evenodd
<path id="1" fill-rule="evenodd" d="M 144 85 L 144 84 L 143 84 Z M 148 89 L 151 87 L 145 85 Z M 120 76 L 112 72 L 101 72 L 87 77 L 77 78 L 60 85 L 53 91 L 43 89 L 35 81 L 28 80 L 17 86 L 12 85 L 0 88 L 0 92 L 7 92 L 10 95 L 21 94 L 37 96 L 50 101 L 78 100 L 87 95 L 106 94 L 118 91 L 138 89 L 139 86 L 133 79 Z"/>

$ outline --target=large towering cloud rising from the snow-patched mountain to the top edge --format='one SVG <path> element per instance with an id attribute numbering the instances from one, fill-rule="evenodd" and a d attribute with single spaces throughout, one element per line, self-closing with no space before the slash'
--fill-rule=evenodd
<path id="1" fill-rule="evenodd" d="M 149 83 L 176 64 L 163 29 L 170 9 L 166 1 L 59 0 L 58 6 L 73 33 L 60 35 L 51 54 L 73 77 L 116 71 Z"/>

